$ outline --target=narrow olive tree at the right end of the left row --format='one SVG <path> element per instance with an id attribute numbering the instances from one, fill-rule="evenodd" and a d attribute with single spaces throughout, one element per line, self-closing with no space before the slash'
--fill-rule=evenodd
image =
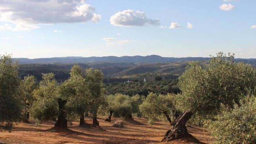
<path id="1" fill-rule="evenodd" d="M 88 106 L 93 114 L 93 124 L 99 125 L 97 112 L 101 104 L 104 103 L 103 73 L 98 69 L 89 68 L 85 70 L 85 81 L 88 87 Z"/>

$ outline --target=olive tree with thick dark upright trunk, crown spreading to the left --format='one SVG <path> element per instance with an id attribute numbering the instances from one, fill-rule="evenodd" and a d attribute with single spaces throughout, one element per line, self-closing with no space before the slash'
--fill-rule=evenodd
<path id="1" fill-rule="evenodd" d="M 31 107 L 31 116 L 39 122 L 56 120 L 56 127 L 67 128 L 66 100 L 59 95 L 59 87 L 53 73 L 43 74 L 38 89 L 33 92 L 36 101 Z"/>

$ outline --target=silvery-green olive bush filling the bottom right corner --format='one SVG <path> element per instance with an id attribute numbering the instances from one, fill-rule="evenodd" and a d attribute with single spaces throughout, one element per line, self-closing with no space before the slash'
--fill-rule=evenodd
<path id="1" fill-rule="evenodd" d="M 235 104 L 234 109 L 223 106 L 216 121 L 207 123 L 215 144 L 256 143 L 256 97 L 246 97 L 239 105 Z"/>

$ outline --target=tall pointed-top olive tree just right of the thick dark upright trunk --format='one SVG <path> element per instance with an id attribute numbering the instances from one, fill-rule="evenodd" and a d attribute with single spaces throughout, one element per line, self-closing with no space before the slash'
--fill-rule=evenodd
<path id="1" fill-rule="evenodd" d="M 68 118 L 71 120 L 80 117 L 80 125 L 84 125 L 84 113 L 89 111 L 91 97 L 79 65 L 72 67 L 70 78 L 60 86 L 60 95 L 67 100 Z"/>

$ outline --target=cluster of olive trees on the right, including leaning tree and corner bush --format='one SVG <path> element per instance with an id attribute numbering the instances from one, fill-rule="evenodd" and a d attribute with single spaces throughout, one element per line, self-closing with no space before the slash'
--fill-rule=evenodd
<path id="1" fill-rule="evenodd" d="M 215 143 L 256 142 L 256 70 L 233 58 L 218 53 L 205 66 L 189 63 L 179 77 L 182 93 L 147 96 L 140 105 L 143 115 L 171 124 L 162 141 L 191 136 L 186 129 L 191 120 L 207 126 Z"/>

